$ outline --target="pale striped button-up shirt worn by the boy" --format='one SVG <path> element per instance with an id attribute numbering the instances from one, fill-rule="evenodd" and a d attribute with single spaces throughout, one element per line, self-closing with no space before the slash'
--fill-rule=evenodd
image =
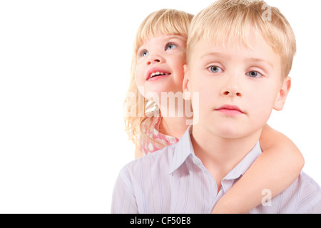
<path id="1" fill-rule="evenodd" d="M 188 128 L 178 143 L 123 167 L 113 190 L 112 213 L 210 213 L 262 152 L 258 142 L 223 178 L 218 191 L 194 154 L 190 133 Z M 284 192 L 250 213 L 321 213 L 320 187 L 302 172 Z"/>

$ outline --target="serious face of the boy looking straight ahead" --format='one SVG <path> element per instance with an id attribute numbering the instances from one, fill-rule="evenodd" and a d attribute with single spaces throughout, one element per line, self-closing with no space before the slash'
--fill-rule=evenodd
<path id="1" fill-rule="evenodd" d="M 193 46 L 183 86 L 199 93 L 200 129 L 240 138 L 263 128 L 273 108 L 283 108 L 290 78 L 281 78 L 280 56 L 261 35 L 249 32 L 248 44 L 253 49 L 204 39 Z"/>

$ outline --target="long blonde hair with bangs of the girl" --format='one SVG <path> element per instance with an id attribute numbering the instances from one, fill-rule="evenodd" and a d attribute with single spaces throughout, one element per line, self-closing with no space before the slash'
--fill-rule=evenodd
<path id="1" fill-rule="evenodd" d="M 161 9 L 149 14 L 138 28 L 136 39 L 133 44 L 131 79 L 128 88 L 128 93 L 131 94 L 131 97 L 127 96 L 124 101 L 126 132 L 130 140 L 132 140 L 136 146 L 138 146 L 137 138 L 139 133 L 143 133 L 141 131 L 141 123 L 143 123 L 147 118 L 151 118 L 147 117 L 145 113 L 143 113 L 143 115 L 140 113 L 140 107 L 143 106 L 145 108 L 148 100 L 143 98 L 143 95 L 139 93 L 135 81 L 138 48 L 151 38 L 161 35 L 180 35 L 187 39 L 188 26 L 192 19 L 193 15 L 184 11 Z M 136 98 L 135 102 L 133 102 L 132 99 L 133 95 L 135 95 Z M 131 113 L 131 115 L 128 115 L 128 113 Z M 143 136 L 147 137 L 144 133 Z"/>

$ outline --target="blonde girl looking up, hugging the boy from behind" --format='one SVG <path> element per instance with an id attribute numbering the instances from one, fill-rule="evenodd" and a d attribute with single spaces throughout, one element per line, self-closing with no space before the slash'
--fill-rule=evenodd
<path id="1" fill-rule="evenodd" d="M 183 11 L 162 9 L 147 16 L 138 28 L 128 88 L 131 96 L 124 103 L 126 130 L 136 145 L 136 157 L 178 142 L 188 128 L 186 123 L 191 123 L 193 117 L 186 111 L 191 110 L 190 103 L 179 101 L 183 100 L 185 48 L 192 18 Z M 178 102 L 173 105 L 168 98 Z M 262 203 L 263 190 L 270 190 L 274 197 L 300 175 L 303 157 L 285 135 L 266 125 L 260 145 L 263 154 L 218 201 L 213 213 L 246 213 Z"/>

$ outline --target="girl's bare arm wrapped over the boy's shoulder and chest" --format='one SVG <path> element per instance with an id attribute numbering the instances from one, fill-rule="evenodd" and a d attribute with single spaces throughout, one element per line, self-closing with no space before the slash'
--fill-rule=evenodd
<path id="1" fill-rule="evenodd" d="M 247 213 L 261 204 L 263 190 L 279 195 L 300 175 L 304 158 L 282 133 L 265 125 L 260 145 L 263 153 L 245 175 L 223 195 L 212 213 Z"/>

